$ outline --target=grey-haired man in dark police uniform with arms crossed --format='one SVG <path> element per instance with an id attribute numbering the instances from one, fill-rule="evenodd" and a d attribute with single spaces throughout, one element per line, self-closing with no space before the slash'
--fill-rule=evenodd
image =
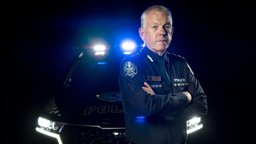
<path id="1" fill-rule="evenodd" d="M 149 7 L 139 35 L 146 46 L 123 59 L 119 76 L 126 140 L 185 144 L 186 120 L 207 113 L 206 94 L 186 59 L 166 52 L 173 35 L 170 11 Z"/>

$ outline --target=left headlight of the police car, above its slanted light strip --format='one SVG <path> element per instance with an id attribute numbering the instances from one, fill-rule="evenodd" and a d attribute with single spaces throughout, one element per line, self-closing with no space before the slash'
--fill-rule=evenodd
<path id="1" fill-rule="evenodd" d="M 47 120 L 41 117 L 38 118 L 38 125 L 50 131 L 58 131 L 58 132 L 60 132 L 62 127 L 64 126 L 63 124 L 52 122 L 50 120 Z"/>

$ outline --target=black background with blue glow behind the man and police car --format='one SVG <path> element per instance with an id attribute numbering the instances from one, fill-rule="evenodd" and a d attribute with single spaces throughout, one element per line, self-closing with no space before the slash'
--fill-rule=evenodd
<path id="1" fill-rule="evenodd" d="M 189 60 L 208 95 L 208 115 L 200 135 L 188 144 L 248 143 L 254 130 L 254 24 L 252 4 L 234 1 L 64 2 L 19 1 L 7 4 L 8 56 L 2 70 L 6 103 L 6 140 L 37 143 L 37 113 L 52 86 L 90 35 L 118 36 L 139 44 L 140 16 L 152 5 L 173 15 L 169 52 Z M 102 21 L 101 21 L 102 20 Z M 104 33 L 105 32 L 105 33 Z M 83 40 L 84 39 L 84 40 Z M 119 42 L 117 42 L 119 44 Z M 7 56 L 7 57 L 5 57 Z"/>

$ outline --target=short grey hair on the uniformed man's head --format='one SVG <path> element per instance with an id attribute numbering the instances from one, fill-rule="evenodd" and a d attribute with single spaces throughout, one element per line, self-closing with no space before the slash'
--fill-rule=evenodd
<path id="1" fill-rule="evenodd" d="M 169 9 L 167 9 L 166 7 L 164 6 L 158 6 L 158 5 L 155 5 L 155 6 L 151 6 L 151 7 L 148 7 L 141 15 L 141 28 L 145 28 L 146 26 L 146 18 L 148 16 L 148 13 L 152 10 L 156 10 L 156 11 L 160 11 L 164 14 L 166 14 L 167 16 L 169 16 L 171 18 L 171 26 L 173 25 L 173 18 L 172 18 L 172 15 L 171 15 L 171 11 L 169 11 Z"/>

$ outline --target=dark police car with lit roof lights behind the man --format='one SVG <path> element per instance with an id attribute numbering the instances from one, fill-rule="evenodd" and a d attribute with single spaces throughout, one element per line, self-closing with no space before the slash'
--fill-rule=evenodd
<path id="1" fill-rule="evenodd" d="M 134 44 L 124 44 L 124 50 Z M 119 92 L 120 63 L 130 52 L 105 46 L 77 46 L 55 92 L 38 116 L 36 131 L 46 143 L 126 144 L 124 109 Z M 202 128 L 187 121 L 187 132 Z"/>

